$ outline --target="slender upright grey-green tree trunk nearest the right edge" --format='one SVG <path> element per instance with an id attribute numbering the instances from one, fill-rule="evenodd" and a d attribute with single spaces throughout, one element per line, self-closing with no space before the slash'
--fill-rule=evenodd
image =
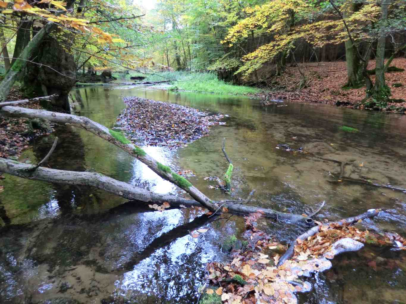
<path id="1" fill-rule="evenodd" d="M 390 0 L 382 0 L 381 3 L 381 17 L 380 17 L 380 26 L 382 27 L 381 35 L 378 39 L 378 45 L 376 47 L 376 68 L 375 68 L 375 90 L 376 92 L 381 92 L 386 90 L 385 87 L 385 43 L 386 43 L 386 34 L 384 34 L 386 21 L 388 18 L 388 6 Z"/>

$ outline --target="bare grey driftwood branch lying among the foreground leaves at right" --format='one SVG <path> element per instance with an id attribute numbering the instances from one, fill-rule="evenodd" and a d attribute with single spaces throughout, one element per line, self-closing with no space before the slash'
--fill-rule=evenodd
<path id="1" fill-rule="evenodd" d="M 352 225 L 358 221 L 362 221 L 365 218 L 372 218 L 374 216 L 377 216 L 378 213 L 380 212 L 380 209 L 369 209 L 367 212 L 364 212 L 363 214 L 357 215 L 357 216 L 352 216 L 349 218 L 343 218 L 342 220 L 338 221 L 338 222 L 334 222 L 332 224 L 334 225 Z M 330 223 L 331 224 L 331 223 Z M 326 224 L 328 225 L 328 224 Z M 320 226 L 315 226 L 311 229 L 309 229 L 308 231 L 306 231 L 305 233 L 299 235 L 296 240 L 294 240 L 292 242 L 292 244 L 289 246 L 289 248 L 286 250 L 285 254 L 279 259 L 278 262 L 278 266 L 282 265 L 283 263 L 285 263 L 286 260 L 290 259 L 291 257 L 293 257 L 294 255 L 294 250 L 295 250 L 295 246 L 298 245 L 298 240 L 304 241 L 307 240 L 307 238 L 315 235 L 317 232 L 320 231 Z"/>

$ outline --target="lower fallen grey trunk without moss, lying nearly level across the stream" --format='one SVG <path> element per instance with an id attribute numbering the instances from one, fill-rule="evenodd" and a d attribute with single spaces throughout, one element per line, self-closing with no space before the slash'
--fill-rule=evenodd
<path id="1" fill-rule="evenodd" d="M 56 184 L 92 186 L 125 199 L 143 201 L 145 203 L 163 204 L 164 202 L 168 202 L 171 206 L 177 207 L 180 205 L 185 207 L 201 207 L 201 204 L 193 199 L 154 193 L 96 172 L 66 171 L 50 169 L 47 167 L 37 167 L 33 170 L 32 165 L 5 158 L 0 158 L 0 172 L 8 173 L 20 178 L 41 180 Z M 283 213 L 255 206 L 246 206 L 242 204 L 241 201 L 221 201 L 214 203 L 221 204 L 221 206 L 227 207 L 229 212 L 236 214 L 250 214 L 262 210 L 263 215 L 270 218 L 283 219 L 295 224 L 302 223 L 304 225 L 314 225 L 313 220 L 307 216 Z"/>

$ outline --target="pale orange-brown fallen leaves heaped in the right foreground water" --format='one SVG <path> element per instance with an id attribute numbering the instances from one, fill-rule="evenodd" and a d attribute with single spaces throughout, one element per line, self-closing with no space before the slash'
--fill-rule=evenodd
<path id="1" fill-rule="evenodd" d="M 261 215 L 257 212 L 246 217 L 248 230 L 244 237 L 248 245 L 244 250 L 234 251 L 230 263 L 207 265 L 209 287 L 204 293 L 228 304 L 296 304 L 295 293 L 312 288 L 305 277 L 331 268 L 329 260 L 335 255 L 358 250 L 363 244 L 396 244 L 400 249 L 406 245 L 397 233 L 376 234 L 353 226 L 317 222 L 320 232 L 301 241 L 295 246 L 294 256 L 277 266 L 281 248 L 286 247 L 257 231 L 255 224 Z M 203 298 L 205 296 L 203 294 Z"/>

